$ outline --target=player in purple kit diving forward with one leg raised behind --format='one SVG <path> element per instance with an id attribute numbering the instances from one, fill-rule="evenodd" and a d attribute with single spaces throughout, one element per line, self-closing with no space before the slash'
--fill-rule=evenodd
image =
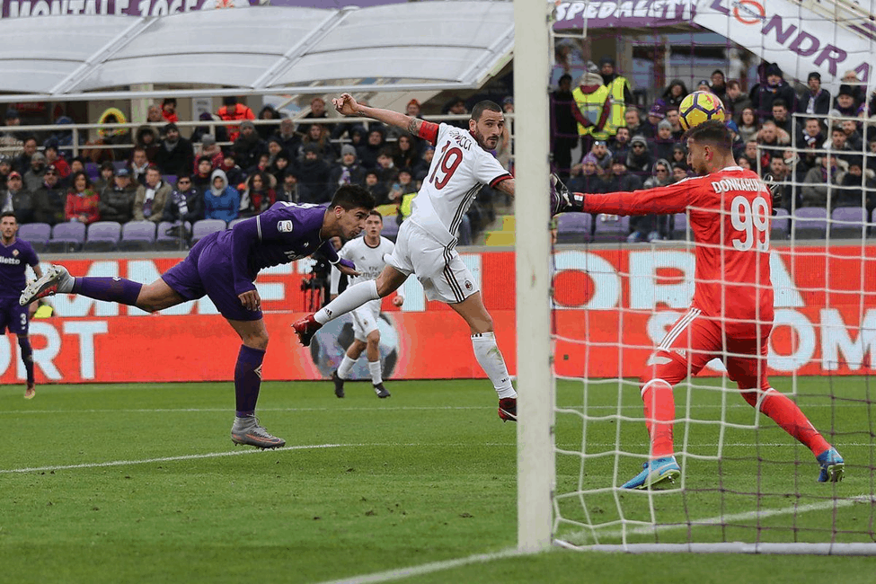
<path id="1" fill-rule="evenodd" d="M 286 441 L 271 436 L 255 418 L 268 331 L 253 281 L 259 270 L 305 258 L 317 250 L 341 272 L 358 276 L 352 262 L 339 259 L 329 240 L 358 235 L 373 207 L 374 198 L 356 185 L 342 186 L 328 205 L 275 203 L 233 229 L 201 239 L 185 260 L 152 284 L 119 278 L 73 278 L 63 266 L 52 266 L 22 292 L 19 301 L 26 305 L 50 294 L 81 294 L 152 313 L 209 296 L 243 341 L 234 368 L 237 408 L 231 439 L 234 444 L 282 447 Z"/>

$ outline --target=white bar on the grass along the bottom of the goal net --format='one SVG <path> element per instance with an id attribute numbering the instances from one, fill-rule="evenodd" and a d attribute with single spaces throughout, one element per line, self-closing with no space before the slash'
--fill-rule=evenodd
<path id="1" fill-rule="evenodd" d="M 764 553 L 772 555 L 876 555 L 872 544 L 616 544 L 574 545 L 562 540 L 554 544 L 571 550 L 606 553 Z"/>

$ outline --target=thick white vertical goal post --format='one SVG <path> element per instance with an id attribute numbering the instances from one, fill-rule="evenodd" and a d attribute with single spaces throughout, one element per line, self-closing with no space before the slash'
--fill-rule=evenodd
<path id="1" fill-rule="evenodd" d="M 518 549 L 549 547 L 554 452 L 551 367 L 548 78 L 553 4 L 515 0 L 514 100 L 517 217 Z M 525 307 L 525 309 L 523 309 Z"/>

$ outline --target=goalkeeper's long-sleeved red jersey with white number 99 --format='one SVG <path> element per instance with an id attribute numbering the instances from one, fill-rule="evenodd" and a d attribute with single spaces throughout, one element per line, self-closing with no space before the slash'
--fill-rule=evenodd
<path id="1" fill-rule="evenodd" d="M 769 189 L 756 173 L 729 166 L 665 187 L 588 194 L 584 211 L 613 215 L 685 213 L 694 233 L 693 307 L 737 339 L 766 338 L 773 327 Z M 760 325 L 758 327 L 758 324 Z"/>

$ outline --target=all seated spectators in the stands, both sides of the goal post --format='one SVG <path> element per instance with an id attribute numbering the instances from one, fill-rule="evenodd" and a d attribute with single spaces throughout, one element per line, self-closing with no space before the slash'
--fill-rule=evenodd
<path id="1" fill-rule="evenodd" d="M 866 99 L 854 72 L 844 76 L 836 96 L 821 86 L 818 73 L 800 93 L 778 66 L 764 63 L 759 74 L 747 92 L 721 70 L 694 88 L 721 98 L 738 164 L 780 183 L 783 208 L 791 213 L 863 207 L 872 217 L 876 131 L 867 120 L 876 115 L 876 99 Z M 571 190 L 647 189 L 689 176 L 678 109 L 690 93 L 686 84 L 673 79 L 645 108 L 632 90 L 607 57 L 598 66 L 588 63 L 574 86 L 571 75 L 560 77 L 550 98 L 551 145 L 554 169 Z M 513 99 L 502 106 L 513 112 Z M 420 102 L 411 100 L 405 113 L 421 117 Z M 442 113 L 467 113 L 465 100 L 454 97 Z M 319 122 L 308 121 L 314 119 Z M 270 105 L 256 115 L 233 97 L 199 120 L 205 125 L 183 137 L 176 101 L 165 99 L 149 106 L 143 125 L 102 129 L 98 139 L 78 145 L 81 155 L 71 156 L 73 133 L 65 127 L 72 119 L 58 119 L 61 129 L 38 137 L 9 109 L 0 128 L 0 211 L 13 211 L 20 224 L 50 226 L 169 222 L 184 238 L 201 219 L 229 223 L 276 201 L 325 203 L 338 186 L 359 184 L 397 224 L 410 213 L 434 155 L 419 137 L 379 123 L 325 123 L 320 97 L 297 120 L 281 119 Z M 116 108 L 100 119 L 126 121 Z M 466 126 L 465 120 L 451 123 Z M 510 134 L 495 154 L 513 172 Z M 484 187 L 460 228 L 461 244 L 472 243 L 495 217 L 494 199 Z M 594 220 L 591 233 L 597 225 Z M 631 242 L 670 239 L 673 218 L 633 217 L 628 231 Z"/>

